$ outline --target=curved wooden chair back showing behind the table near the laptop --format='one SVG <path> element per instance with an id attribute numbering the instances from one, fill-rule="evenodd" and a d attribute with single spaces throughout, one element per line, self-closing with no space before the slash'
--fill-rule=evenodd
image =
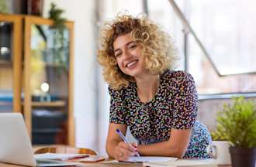
<path id="1" fill-rule="evenodd" d="M 89 148 L 73 148 L 67 146 L 53 146 L 53 147 L 43 147 L 37 148 L 34 154 L 42 153 L 59 153 L 59 154 L 89 154 L 89 155 L 98 155 L 98 152 L 95 152 Z"/>

